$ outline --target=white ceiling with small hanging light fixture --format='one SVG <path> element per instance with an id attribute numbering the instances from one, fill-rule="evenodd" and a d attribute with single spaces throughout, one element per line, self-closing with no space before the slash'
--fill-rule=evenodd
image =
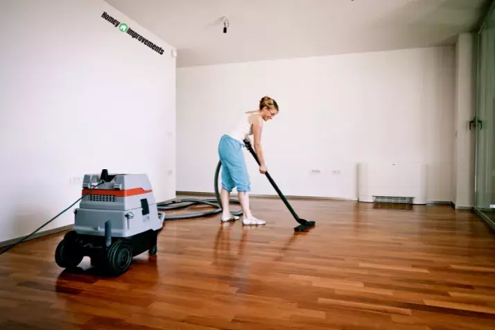
<path id="1" fill-rule="evenodd" d="M 106 1 L 175 47 L 177 67 L 453 44 L 476 27 L 489 2 Z"/>

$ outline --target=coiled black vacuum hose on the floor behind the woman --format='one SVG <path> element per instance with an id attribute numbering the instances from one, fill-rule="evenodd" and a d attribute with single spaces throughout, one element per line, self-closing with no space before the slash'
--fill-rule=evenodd
<path id="1" fill-rule="evenodd" d="M 171 200 L 166 200 L 164 202 L 157 202 L 158 211 L 169 211 L 171 209 L 183 209 L 184 207 L 190 207 L 191 205 L 197 204 L 205 204 L 211 207 L 215 207 L 211 211 L 198 212 L 193 214 L 177 214 L 175 216 L 164 216 L 165 220 L 177 220 L 177 219 L 189 219 L 189 218 L 199 218 L 201 216 L 211 216 L 214 214 L 219 214 L 223 211 L 222 209 L 222 200 L 220 199 L 220 192 L 218 191 L 218 174 L 220 173 L 220 168 L 222 167 L 222 162 L 218 161 L 215 171 L 214 178 L 214 188 L 215 188 L 215 196 L 216 198 L 207 198 L 204 200 L 200 200 L 198 198 L 182 198 L 177 199 L 173 198 Z M 239 203 L 238 200 L 230 199 L 229 202 Z M 240 216 L 243 214 L 243 211 L 232 212 L 234 216 Z"/>

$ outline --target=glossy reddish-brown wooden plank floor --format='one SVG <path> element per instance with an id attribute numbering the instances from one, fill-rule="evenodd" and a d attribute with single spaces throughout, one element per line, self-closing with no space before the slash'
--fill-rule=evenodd
<path id="1" fill-rule="evenodd" d="M 0 256 L 0 329 L 495 329 L 495 236 L 469 211 L 291 203 L 317 226 L 252 198 L 265 227 L 168 221 L 115 279 L 58 268 L 63 233 L 19 245 Z"/>

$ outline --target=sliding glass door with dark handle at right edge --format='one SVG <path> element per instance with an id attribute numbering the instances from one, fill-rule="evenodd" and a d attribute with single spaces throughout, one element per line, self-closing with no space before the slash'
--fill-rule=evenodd
<path id="1" fill-rule="evenodd" d="M 475 211 L 495 228 L 495 12 L 489 12 L 478 33 Z"/>

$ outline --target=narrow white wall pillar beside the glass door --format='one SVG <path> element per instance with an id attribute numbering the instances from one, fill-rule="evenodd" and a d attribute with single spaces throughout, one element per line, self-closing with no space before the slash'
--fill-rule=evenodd
<path id="1" fill-rule="evenodd" d="M 462 33 L 455 44 L 455 137 L 454 137 L 454 191 L 456 208 L 474 205 L 474 140 L 475 128 L 469 130 L 469 121 L 475 114 L 476 55 L 474 35 Z"/>

